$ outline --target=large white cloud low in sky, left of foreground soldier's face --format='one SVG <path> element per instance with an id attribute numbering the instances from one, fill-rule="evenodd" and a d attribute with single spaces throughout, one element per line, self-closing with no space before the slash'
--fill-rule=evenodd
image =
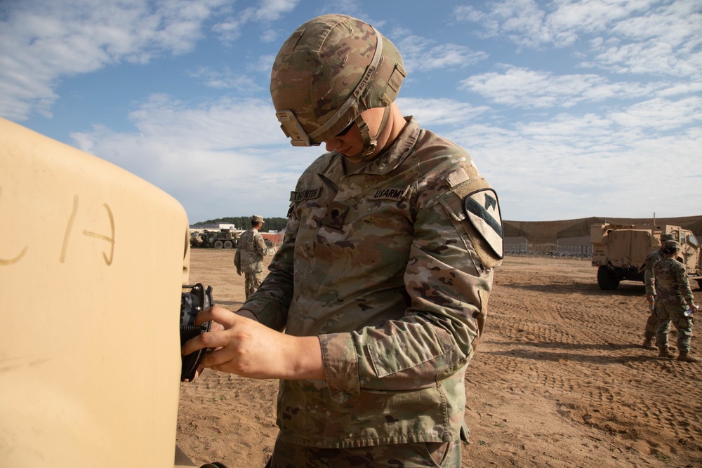
<path id="1" fill-rule="evenodd" d="M 152 95 L 130 120 L 137 131 L 96 126 L 71 137 L 79 149 L 174 196 L 191 222 L 219 218 L 235 206 L 259 206 L 270 216 L 286 213 L 298 176 L 322 153 L 289 145 L 270 102 L 255 99 L 223 98 L 193 108 Z"/>

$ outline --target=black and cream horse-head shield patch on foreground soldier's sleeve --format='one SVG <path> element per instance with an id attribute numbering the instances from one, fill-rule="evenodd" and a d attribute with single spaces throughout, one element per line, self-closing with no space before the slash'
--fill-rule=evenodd
<path id="1" fill-rule="evenodd" d="M 504 258 L 504 236 L 502 215 L 497 194 L 492 189 L 483 189 L 465 197 L 463 201 L 465 215 L 482 235 L 486 243 L 499 258 Z"/>

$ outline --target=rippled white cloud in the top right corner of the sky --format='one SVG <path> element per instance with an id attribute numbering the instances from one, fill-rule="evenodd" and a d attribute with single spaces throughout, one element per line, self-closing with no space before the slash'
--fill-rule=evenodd
<path id="1" fill-rule="evenodd" d="M 475 22 L 486 37 L 522 47 L 563 48 L 590 41 L 585 67 L 614 72 L 699 76 L 702 12 L 697 0 L 504 0 L 456 7 L 456 18 Z"/>

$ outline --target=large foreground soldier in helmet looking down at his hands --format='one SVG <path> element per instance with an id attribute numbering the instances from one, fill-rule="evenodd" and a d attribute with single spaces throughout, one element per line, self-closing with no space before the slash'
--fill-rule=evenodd
<path id="1" fill-rule="evenodd" d="M 183 348 L 280 379 L 272 467 L 461 466 L 501 215 L 468 153 L 402 116 L 405 74 L 385 36 L 343 15 L 298 27 L 274 62 L 284 133 L 328 152 L 291 193 L 263 284 L 237 314 L 201 312 L 225 329 Z"/>

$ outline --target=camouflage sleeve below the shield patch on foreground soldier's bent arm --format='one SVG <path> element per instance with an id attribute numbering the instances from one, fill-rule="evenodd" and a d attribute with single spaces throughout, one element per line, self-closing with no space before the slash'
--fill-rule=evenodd
<path id="1" fill-rule="evenodd" d="M 361 388 L 435 386 L 470 361 L 492 288 L 494 270 L 484 265 L 496 266 L 501 255 L 480 257 L 463 197 L 451 196 L 418 213 L 404 276 L 410 303 L 404 317 L 319 337 L 326 381 L 336 401 Z"/>

